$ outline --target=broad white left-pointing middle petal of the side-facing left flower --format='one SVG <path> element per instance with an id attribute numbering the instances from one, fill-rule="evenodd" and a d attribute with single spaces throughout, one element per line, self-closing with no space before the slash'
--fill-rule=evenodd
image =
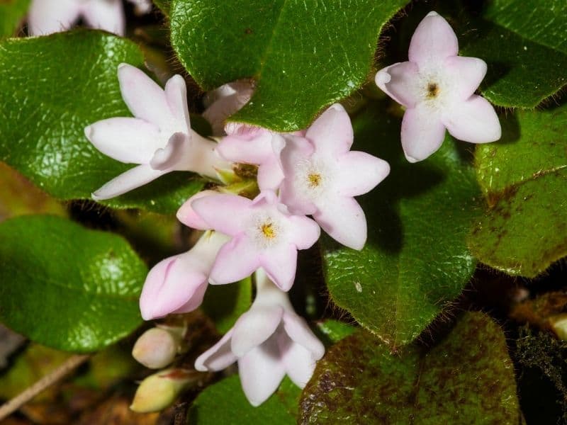
<path id="1" fill-rule="evenodd" d="M 157 127 L 137 118 L 97 121 L 84 134 L 103 154 L 125 163 L 147 164 L 162 147 Z"/>

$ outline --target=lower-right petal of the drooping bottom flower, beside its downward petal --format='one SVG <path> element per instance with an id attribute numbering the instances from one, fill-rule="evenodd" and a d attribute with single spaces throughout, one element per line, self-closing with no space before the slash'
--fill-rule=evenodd
<path id="1" fill-rule="evenodd" d="M 278 335 L 278 345 L 287 375 L 294 384 L 304 388 L 311 379 L 317 364 L 313 353 L 291 341 L 286 334 Z"/>

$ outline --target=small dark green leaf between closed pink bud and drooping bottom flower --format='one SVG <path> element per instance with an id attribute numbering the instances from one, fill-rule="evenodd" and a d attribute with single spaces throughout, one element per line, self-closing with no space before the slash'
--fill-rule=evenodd
<path id="1" fill-rule="evenodd" d="M 213 319 L 215 327 L 225 334 L 241 314 L 252 305 L 252 279 L 230 285 L 209 285 L 201 308 Z"/>

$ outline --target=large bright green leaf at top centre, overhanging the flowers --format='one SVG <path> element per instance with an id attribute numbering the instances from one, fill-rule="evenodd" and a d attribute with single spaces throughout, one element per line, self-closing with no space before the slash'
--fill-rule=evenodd
<path id="1" fill-rule="evenodd" d="M 173 0 L 172 45 L 204 89 L 257 80 L 234 120 L 298 130 L 364 84 L 381 28 L 407 3 Z"/>

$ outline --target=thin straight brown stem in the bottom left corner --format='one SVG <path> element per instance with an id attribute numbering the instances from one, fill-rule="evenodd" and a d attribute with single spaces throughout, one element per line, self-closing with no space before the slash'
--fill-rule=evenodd
<path id="1" fill-rule="evenodd" d="M 10 399 L 8 402 L 4 403 L 0 407 L 0 421 L 6 419 L 7 416 L 16 412 L 23 404 L 26 404 L 38 395 L 43 390 L 46 390 L 51 385 L 55 384 L 57 381 L 61 380 L 71 373 L 74 369 L 78 368 L 82 363 L 91 358 L 90 354 L 79 354 L 76 356 L 69 357 L 62 365 L 57 369 L 53 370 L 49 375 L 45 375 L 43 378 L 35 382 L 31 387 L 26 388 L 23 392 Z"/>

